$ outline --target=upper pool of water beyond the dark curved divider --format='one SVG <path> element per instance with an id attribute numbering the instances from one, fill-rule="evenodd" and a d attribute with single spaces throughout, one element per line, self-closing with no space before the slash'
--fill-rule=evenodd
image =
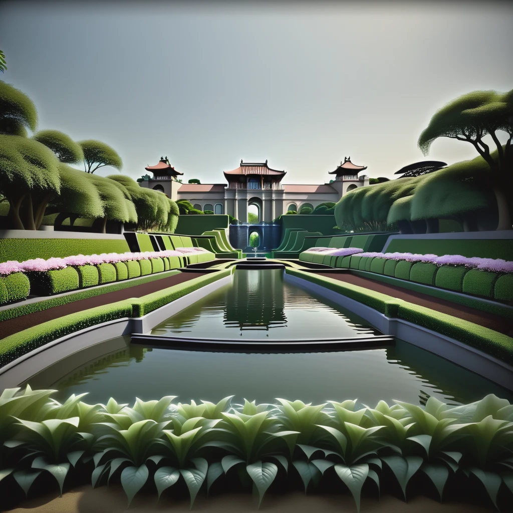
<path id="1" fill-rule="evenodd" d="M 279 340 L 379 334 L 351 312 L 284 281 L 282 269 L 239 269 L 230 285 L 173 315 L 151 333 Z"/>

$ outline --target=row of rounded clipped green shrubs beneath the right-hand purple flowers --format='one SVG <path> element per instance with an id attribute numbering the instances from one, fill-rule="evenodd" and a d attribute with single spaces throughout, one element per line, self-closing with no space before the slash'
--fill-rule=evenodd
<path id="1" fill-rule="evenodd" d="M 334 257 L 324 258 L 326 261 Z M 358 253 L 349 257 L 336 257 L 334 267 L 375 272 L 400 280 L 513 303 L 513 275 L 509 273 L 468 269 L 464 266 L 437 266 L 425 262 L 361 257 Z"/>

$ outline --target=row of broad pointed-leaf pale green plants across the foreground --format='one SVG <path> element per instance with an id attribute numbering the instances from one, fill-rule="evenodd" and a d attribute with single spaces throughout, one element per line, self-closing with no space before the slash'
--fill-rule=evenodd
<path id="1" fill-rule="evenodd" d="M 288 482 L 305 492 L 338 483 L 357 510 L 366 482 L 395 484 L 404 500 L 415 477 L 440 501 L 458 479 L 486 491 L 496 508 L 513 499 L 513 405 L 493 394 L 450 406 L 430 397 L 425 407 L 357 400 L 319 405 L 277 399 L 273 404 L 214 404 L 110 398 L 63 404 L 55 390 L 29 386 L 0 396 L 0 489 L 25 494 L 42 473 L 63 490 L 68 475 L 85 472 L 93 487 L 121 482 L 128 504 L 143 487 L 156 500 L 182 481 L 191 507 L 200 489 L 235 480 L 259 497 Z"/>

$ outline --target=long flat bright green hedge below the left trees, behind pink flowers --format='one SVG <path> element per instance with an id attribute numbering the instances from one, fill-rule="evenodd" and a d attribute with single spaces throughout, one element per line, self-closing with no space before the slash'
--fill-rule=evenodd
<path id="1" fill-rule="evenodd" d="M 0 262 L 126 251 L 130 249 L 124 239 L 0 239 Z"/>

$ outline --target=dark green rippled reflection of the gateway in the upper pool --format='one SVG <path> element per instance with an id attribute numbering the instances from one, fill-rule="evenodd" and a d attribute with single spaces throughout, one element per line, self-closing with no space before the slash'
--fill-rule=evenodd
<path id="1" fill-rule="evenodd" d="M 225 326 L 240 330 L 286 326 L 283 290 L 281 269 L 238 270 L 227 293 Z"/>

